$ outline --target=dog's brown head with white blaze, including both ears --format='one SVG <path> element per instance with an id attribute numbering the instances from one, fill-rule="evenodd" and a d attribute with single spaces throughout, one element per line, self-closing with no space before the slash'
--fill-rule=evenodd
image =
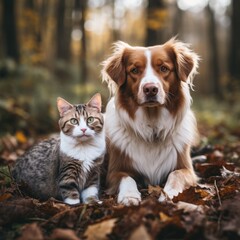
<path id="1" fill-rule="evenodd" d="M 181 82 L 192 85 L 198 60 L 186 44 L 174 38 L 152 47 L 117 42 L 102 73 L 109 85 L 116 83 L 120 106 L 130 107 L 129 112 L 139 106 L 165 106 L 174 112 L 183 101 Z"/>

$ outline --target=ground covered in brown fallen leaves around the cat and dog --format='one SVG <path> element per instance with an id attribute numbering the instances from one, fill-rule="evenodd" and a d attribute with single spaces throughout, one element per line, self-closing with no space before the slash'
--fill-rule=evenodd
<path id="1" fill-rule="evenodd" d="M 0 239 L 240 239 L 240 142 L 205 146 L 193 155 L 199 184 L 159 203 L 159 186 L 142 189 L 139 206 L 115 196 L 95 204 L 40 202 L 20 191 L 9 167 L 30 145 L 17 132 L 0 139 Z"/>

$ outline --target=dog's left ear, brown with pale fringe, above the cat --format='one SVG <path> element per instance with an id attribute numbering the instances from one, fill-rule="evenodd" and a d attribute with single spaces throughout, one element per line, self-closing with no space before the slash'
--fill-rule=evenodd
<path id="1" fill-rule="evenodd" d="M 119 87 L 124 84 L 126 80 L 126 70 L 123 57 L 127 47 L 130 46 L 125 42 L 118 41 L 114 43 L 112 55 L 102 64 L 103 81 L 111 84 L 110 81 L 113 80 Z"/>

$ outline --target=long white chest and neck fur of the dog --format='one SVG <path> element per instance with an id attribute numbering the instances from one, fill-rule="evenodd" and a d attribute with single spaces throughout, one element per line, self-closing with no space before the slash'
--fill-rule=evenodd
<path id="1" fill-rule="evenodd" d="M 155 121 L 147 120 L 139 108 L 133 121 L 124 110 L 116 111 L 114 99 L 107 106 L 105 118 L 107 137 L 151 184 L 161 183 L 176 168 L 177 153 L 193 140 L 194 123 L 190 109 L 177 119 L 165 108 Z M 159 139 L 154 139 L 156 136 Z"/>

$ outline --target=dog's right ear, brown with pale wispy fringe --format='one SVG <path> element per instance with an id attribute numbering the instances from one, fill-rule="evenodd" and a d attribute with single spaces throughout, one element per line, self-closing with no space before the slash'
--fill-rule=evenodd
<path id="1" fill-rule="evenodd" d="M 175 38 L 170 39 L 164 46 L 172 52 L 179 79 L 192 84 L 192 79 L 197 73 L 199 56 L 187 44 Z"/>

